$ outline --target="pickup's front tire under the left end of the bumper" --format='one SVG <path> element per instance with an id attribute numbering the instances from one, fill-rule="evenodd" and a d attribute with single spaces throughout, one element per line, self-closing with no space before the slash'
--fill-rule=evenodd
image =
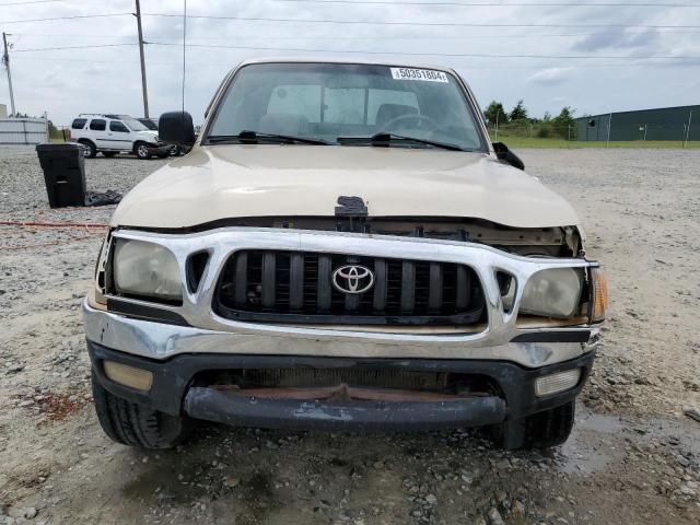
<path id="1" fill-rule="evenodd" d="M 92 395 L 102 429 L 117 443 L 149 450 L 172 448 L 189 434 L 186 418 L 117 397 L 100 384 L 94 372 Z"/>

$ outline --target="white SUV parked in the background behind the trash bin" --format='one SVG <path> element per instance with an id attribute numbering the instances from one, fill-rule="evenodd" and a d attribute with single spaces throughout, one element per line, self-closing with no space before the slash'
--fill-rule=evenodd
<path id="1" fill-rule="evenodd" d="M 85 147 L 88 159 L 94 159 L 98 151 L 105 156 L 128 152 L 139 159 L 152 155 L 165 159 L 171 150 L 159 141 L 158 131 L 148 129 L 128 115 L 81 114 L 70 128 L 71 140 Z"/>

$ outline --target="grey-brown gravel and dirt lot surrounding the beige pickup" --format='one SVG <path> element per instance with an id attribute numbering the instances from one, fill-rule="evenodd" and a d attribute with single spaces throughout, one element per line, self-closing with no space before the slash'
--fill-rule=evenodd
<path id="1" fill-rule="evenodd" d="M 141 453 L 102 433 L 79 305 L 101 233 L 0 226 L 0 524 L 700 523 L 700 151 L 529 150 L 582 217 L 614 298 L 606 346 L 560 450 L 478 433 L 290 433 L 203 427 Z M 162 161 L 86 161 L 127 190 Z M 0 149 L 0 221 L 51 211 L 32 150 Z"/>

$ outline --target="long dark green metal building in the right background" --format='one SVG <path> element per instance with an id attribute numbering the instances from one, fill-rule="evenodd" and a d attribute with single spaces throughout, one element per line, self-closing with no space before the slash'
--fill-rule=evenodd
<path id="1" fill-rule="evenodd" d="M 700 105 L 608 113 L 576 119 L 576 138 L 607 140 L 700 140 Z"/>

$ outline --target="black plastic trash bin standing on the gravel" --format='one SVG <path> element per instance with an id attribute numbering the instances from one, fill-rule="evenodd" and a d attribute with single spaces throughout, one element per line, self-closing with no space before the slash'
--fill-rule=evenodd
<path id="1" fill-rule="evenodd" d="M 49 206 L 85 206 L 83 145 L 74 142 L 38 144 L 36 152 L 44 170 Z"/>

